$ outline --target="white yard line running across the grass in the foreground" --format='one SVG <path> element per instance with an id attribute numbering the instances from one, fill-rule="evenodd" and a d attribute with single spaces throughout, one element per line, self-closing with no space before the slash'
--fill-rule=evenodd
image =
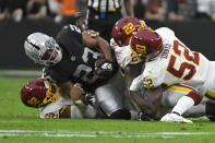
<path id="1" fill-rule="evenodd" d="M 176 138 L 179 135 L 215 135 L 215 132 L 139 132 L 124 131 L 34 131 L 34 130 L 0 130 L 0 136 L 46 136 L 46 138 Z"/>

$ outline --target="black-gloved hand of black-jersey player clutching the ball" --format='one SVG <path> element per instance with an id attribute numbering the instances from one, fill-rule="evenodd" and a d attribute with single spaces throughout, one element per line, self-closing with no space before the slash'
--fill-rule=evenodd
<path id="1" fill-rule="evenodd" d="M 95 71 L 100 78 L 109 78 L 115 71 L 114 62 L 107 59 L 98 59 L 95 63 Z"/>

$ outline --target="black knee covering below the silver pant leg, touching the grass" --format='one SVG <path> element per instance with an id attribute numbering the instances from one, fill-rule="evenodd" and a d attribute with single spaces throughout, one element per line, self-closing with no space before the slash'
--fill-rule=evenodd
<path id="1" fill-rule="evenodd" d="M 131 119 L 131 112 L 128 109 L 119 109 L 110 115 L 110 119 Z"/>

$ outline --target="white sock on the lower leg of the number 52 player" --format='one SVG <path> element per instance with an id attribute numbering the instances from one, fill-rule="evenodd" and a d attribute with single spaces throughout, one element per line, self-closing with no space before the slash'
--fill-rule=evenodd
<path id="1" fill-rule="evenodd" d="M 187 111 L 192 106 L 194 106 L 194 100 L 191 97 L 182 96 L 178 100 L 177 105 L 174 107 L 171 112 L 177 112 L 181 116 L 184 111 Z"/>

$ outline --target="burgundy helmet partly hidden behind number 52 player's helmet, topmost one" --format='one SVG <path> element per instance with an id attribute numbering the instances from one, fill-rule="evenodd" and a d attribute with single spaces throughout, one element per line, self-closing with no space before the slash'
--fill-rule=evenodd
<path id="1" fill-rule="evenodd" d="M 144 21 L 132 16 L 122 17 L 114 25 L 111 36 L 118 46 L 126 46 L 130 37 L 143 27 L 147 27 Z"/>

